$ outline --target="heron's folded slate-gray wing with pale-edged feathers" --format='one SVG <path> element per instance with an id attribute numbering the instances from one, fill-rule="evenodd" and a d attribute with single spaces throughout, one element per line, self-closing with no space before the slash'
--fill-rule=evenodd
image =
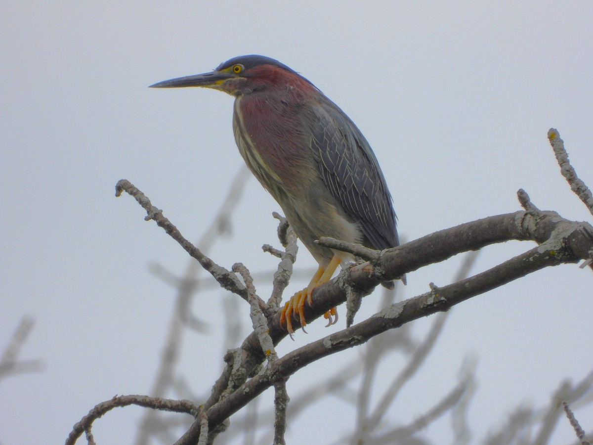
<path id="1" fill-rule="evenodd" d="M 352 120 L 325 99 L 314 109 L 311 145 L 319 156 L 318 173 L 346 214 L 358 221 L 367 247 L 398 246 L 396 213 L 377 158 Z"/>

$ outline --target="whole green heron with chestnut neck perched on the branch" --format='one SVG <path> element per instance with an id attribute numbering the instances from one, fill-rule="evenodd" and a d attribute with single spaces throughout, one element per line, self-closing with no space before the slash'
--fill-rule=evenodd
<path id="1" fill-rule="evenodd" d="M 264 56 L 239 56 L 212 72 L 151 87 L 206 87 L 235 97 L 232 127 L 243 159 L 319 263 L 309 285 L 282 310 L 280 323 L 286 322 L 291 336 L 291 316 L 298 314 L 301 328 L 306 325 L 304 304 L 313 305 L 315 287 L 355 260 L 315 240 L 333 237 L 371 249 L 399 244 L 391 195 L 365 136 L 293 69 Z M 328 326 L 336 323 L 336 308 L 325 317 Z"/>

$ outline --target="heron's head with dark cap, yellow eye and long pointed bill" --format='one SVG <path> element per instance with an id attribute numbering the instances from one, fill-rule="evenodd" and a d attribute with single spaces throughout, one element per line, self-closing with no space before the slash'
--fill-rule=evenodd
<path id="1" fill-rule="evenodd" d="M 205 87 L 221 90 L 232 96 L 240 96 L 287 84 L 305 84 L 313 87 L 311 82 L 275 59 L 248 55 L 223 62 L 211 72 L 178 77 L 150 86 L 151 88 Z"/>

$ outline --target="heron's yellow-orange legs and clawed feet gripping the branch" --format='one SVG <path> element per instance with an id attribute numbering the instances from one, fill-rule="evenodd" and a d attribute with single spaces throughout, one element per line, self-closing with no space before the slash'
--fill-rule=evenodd
<path id="1" fill-rule="evenodd" d="M 291 338 L 294 333 L 294 329 L 292 329 L 292 317 L 295 315 L 298 315 L 301 322 L 301 329 L 303 332 L 307 333 L 305 330 L 305 326 L 307 325 L 304 313 L 305 301 L 307 301 L 310 307 L 313 307 L 313 290 L 330 281 L 331 276 L 334 274 L 341 261 L 342 259 L 339 256 L 334 255 L 329 265 L 327 265 L 327 269 L 324 269 L 323 266 L 319 266 L 317 272 L 315 272 L 315 275 L 311 278 L 309 285 L 302 291 L 298 291 L 294 294 L 284 305 L 284 309 L 282 309 L 282 313 L 280 313 L 280 325 L 283 325 L 286 322 L 286 330 L 288 330 L 288 334 Z M 329 311 L 323 314 L 323 316 L 328 320 L 327 326 L 335 324 L 337 322 L 336 308 L 332 307 Z"/>

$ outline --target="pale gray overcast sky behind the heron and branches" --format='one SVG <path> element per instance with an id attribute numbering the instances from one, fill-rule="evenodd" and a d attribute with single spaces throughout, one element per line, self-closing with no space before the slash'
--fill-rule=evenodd
<path id="1" fill-rule="evenodd" d="M 591 221 L 560 176 L 546 134 L 559 129 L 573 166 L 593 186 L 593 6 L 482 3 L 4 2 L 0 347 L 31 314 L 37 324 L 21 358 L 42 358 L 47 368 L 0 384 L 0 442 L 60 443 L 95 403 L 151 387 L 174 291 L 147 265 L 181 274 L 187 256 L 143 221 L 132 198 L 114 198 L 114 185 L 129 179 L 197 240 L 243 164 L 231 97 L 146 88 L 154 82 L 249 53 L 301 72 L 371 143 L 404 239 L 517 211 L 520 187 L 541 209 Z M 279 207 L 253 179 L 245 193 L 232 239 L 211 256 L 227 268 L 241 261 L 272 271 L 261 245 L 278 245 L 270 214 Z M 476 272 L 531 247 L 485 249 Z M 297 265 L 313 267 L 299 252 Z M 448 284 L 459 263 L 409 274 L 406 297 L 429 282 Z M 544 405 L 562 379 L 582 379 L 593 368 L 592 279 L 588 269 L 559 266 L 455 307 L 390 421 L 408 422 L 445 395 L 467 354 L 478 360 L 470 408 L 476 441 L 515 406 Z M 269 293 L 267 282 L 256 286 Z M 221 320 L 224 296 L 201 295 L 201 316 Z M 365 298 L 357 319 L 378 299 Z M 237 307 L 250 325 L 247 305 Z M 317 322 L 279 352 L 342 329 L 343 320 L 328 329 Z M 415 334 L 430 322 L 415 323 Z M 181 368 L 197 393 L 209 391 L 222 366 L 222 329 L 186 338 Z M 311 365 L 291 378 L 289 394 L 358 354 Z M 400 361 L 390 358 L 384 372 Z M 141 412 L 120 409 L 97 421 L 98 443 L 129 443 Z M 592 409 L 576 414 L 591 427 Z M 347 405 L 330 399 L 299 417 L 287 440 L 298 443 L 306 427 L 326 443 L 327 424 L 349 416 Z M 561 424 L 553 443 L 573 440 Z M 445 418 L 425 433 L 444 443 L 448 431 Z"/>

